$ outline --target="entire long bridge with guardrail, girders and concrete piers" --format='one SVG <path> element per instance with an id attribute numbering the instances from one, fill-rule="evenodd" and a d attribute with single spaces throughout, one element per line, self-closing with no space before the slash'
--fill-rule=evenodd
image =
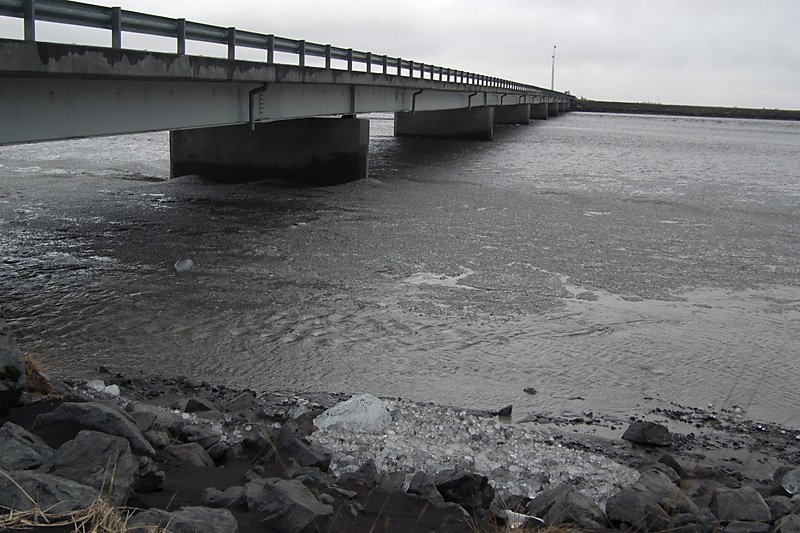
<path id="1" fill-rule="evenodd" d="M 335 184 L 366 177 L 369 120 L 395 135 L 491 140 L 495 124 L 568 111 L 572 96 L 417 61 L 69 0 L 0 0 L 0 145 L 170 131 L 171 175 Z M 110 47 L 40 42 L 38 21 L 110 31 Z M 127 33 L 175 52 L 123 48 Z M 227 57 L 187 55 L 187 41 Z M 237 59 L 244 49 L 260 61 Z"/>

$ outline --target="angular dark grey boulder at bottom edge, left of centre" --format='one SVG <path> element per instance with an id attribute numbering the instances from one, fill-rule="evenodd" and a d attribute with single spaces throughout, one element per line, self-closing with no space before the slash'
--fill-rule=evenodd
<path id="1" fill-rule="evenodd" d="M 311 524 L 322 529 L 327 517 L 333 514 L 330 505 L 320 503 L 305 485 L 296 480 L 251 481 L 244 490 L 247 508 L 268 513 L 262 523 L 282 533 L 299 533 Z"/>

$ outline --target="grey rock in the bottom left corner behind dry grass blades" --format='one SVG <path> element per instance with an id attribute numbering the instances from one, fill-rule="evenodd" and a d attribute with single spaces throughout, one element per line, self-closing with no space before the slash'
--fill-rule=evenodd
<path id="1" fill-rule="evenodd" d="M 52 474 L 29 470 L 6 474 L 0 474 L 0 507 L 6 509 L 29 511 L 38 504 L 52 514 L 69 513 L 89 507 L 98 496 L 92 487 Z"/>

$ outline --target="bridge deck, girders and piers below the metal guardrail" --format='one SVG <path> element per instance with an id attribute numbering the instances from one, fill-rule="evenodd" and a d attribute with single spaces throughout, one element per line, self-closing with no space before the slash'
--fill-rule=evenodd
<path id="1" fill-rule="evenodd" d="M 367 174 L 369 123 L 320 117 L 392 112 L 397 135 L 490 140 L 495 123 L 568 105 L 433 79 L 22 41 L 0 40 L 0 72 L 0 145 L 170 130 L 176 176 L 341 183 Z"/>

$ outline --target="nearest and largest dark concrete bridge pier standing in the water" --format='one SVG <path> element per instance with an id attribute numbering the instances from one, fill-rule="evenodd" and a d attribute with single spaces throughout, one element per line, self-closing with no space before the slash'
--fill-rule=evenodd
<path id="1" fill-rule="evenodd" d="M 170 132 L 172 177 L 336 185 L 367 177 L 369 120 L 305 118 Z"/>

